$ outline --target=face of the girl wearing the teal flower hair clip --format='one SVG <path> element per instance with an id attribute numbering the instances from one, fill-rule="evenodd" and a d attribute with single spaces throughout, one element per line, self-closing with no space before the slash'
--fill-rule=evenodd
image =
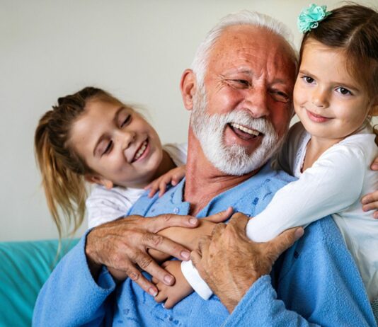
<path id="1" fill-rule="evenodd" d="M 367 90 L 346 69 L 345 54 L 307 40 L 294 86 L 294 109 L 313 137 L 339 142 L 369 114 Z"/>

